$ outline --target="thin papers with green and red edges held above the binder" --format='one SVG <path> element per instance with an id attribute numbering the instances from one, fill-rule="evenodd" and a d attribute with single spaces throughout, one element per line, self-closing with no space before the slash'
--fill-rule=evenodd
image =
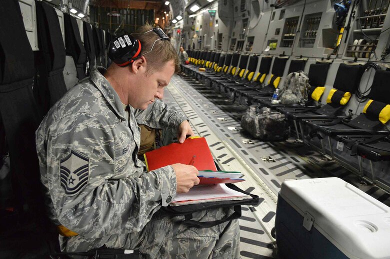
<path id="1" fill-rule="evenodd" d="M 237 183 L 245 181 L 242 179 L 240 172 L 228 172 L 228 171 L 199 171 L 198 178 L 200 180 L 199 185 L 209 184 L 226 184 Z"/>

